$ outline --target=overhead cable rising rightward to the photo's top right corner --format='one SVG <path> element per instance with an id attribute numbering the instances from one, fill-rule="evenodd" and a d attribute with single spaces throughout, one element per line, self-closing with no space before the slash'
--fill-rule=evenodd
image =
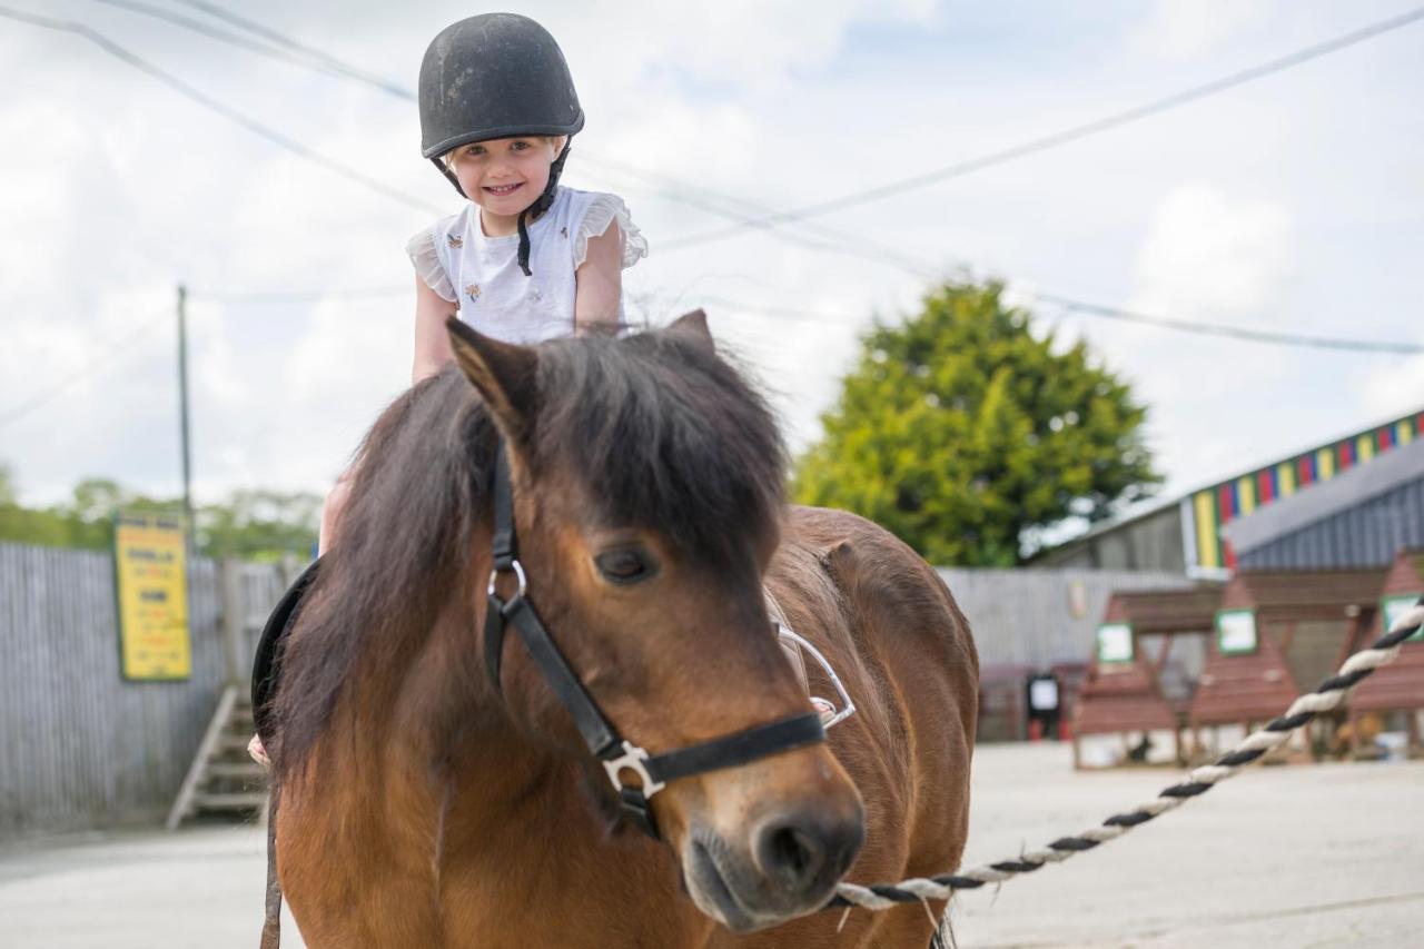
<path id="1" fill-rule="evenodd" d="M 943 168 L 936 168 L 934 171 L 927 171 L 920 175 L 910 178 L 901 178 L 900 181 L 893 181 L 879 188 L 869 188 L 864 191 L 854 191 L 839 198 L 832 198 L 829 201 L 820 201 L 816 204 L 802 205 L 790 211 L 782 211 L 778 214 L 769 214 L 756 221 L 750 221 L 742 225 L 721 228 L 716 231 L 705 231 L 702 234 L 691 234 L 682 238 L 674 238 L 665 241 L 661 247 L 661 252 L 676 251 L 689 247 L 698 247 L 701 244 L 708 244 L 712 241 L 721 241 L 723 238 L 742 234 L 748 227 L 770 229 L 780 227 L 783 224 L 802 222 L 806 218 L 819 217 L 823 214 L 830 214 L 832 211 L 843 211 L 846 208 L 853 208 L 856 205 L 869 204 L 871 201 L 879 201 L 881 198 L 889 198 L 891 195 L 904 194 L 906 191 L 914 191 L 926 185 L 937 184 L 940 181 L 948 181 L 950 178 L 961 178 L 964 175 L 973 174 L 975 171 L 983 171 L 985 168 L 993 168 L 995 165 L 1002 165 L 1027 155 L 1032 155 L 1041 151 L 1049 151 L 1052 148 L 1059 148 L 1074 141 L 1088 138 L 1089 135 L 1096 135 L 1129 123 L 1141 121 L 1151 115 L 1165 113 L 1173 108 L 1179 108 L 1189 103 L 1206 98 L 1209 95 L 1216 95 L 1218 93 L 1225 93 L 1237 85 L 1245 85 L 1246 83 L 1253 83 L 1259 78 L 1265 78 L 1274 73 L 1282 73 L 1284 70 L 1293 68 L 1310 60 L 1337 53 L 1347 47 L 1356 46 L 1357 43 L 1364 43 L 1374 37 L 1383 36 L 1386 33 L 1404 28 L 1418 20 L 1424 19 L 1424 7 L 1415 7 L 1408 13 L 1403 13 L 1397 17 L 1390 17 L 1388 20 L 1381 20 L 1378 23 L 1370 24 L 1360 30 L 1353 30 L 1350 33 L 1337 36 L 1334 38 L 1326 40 L 1324 43 L 1317 43 L 1314 46 L 1296 50 L 1287 56 L 1262 63 L 1260 66 L 1253 66 L 1246 70 L 1232 73 L 1230 76 L 1223 76 L 1222 78 L 1212 80 L 1210 83 L 1203 83 L 1200 85 L 1193 85 L 1192 88 L 1182 90 L 1180 93 L 1173 93 L 1163 98 L 1153 100 L 1143 105 L 1136 105 L 1121 113 L 1114 113 L 1102 118 L 1094 120 L 1091 123 L 1084 123 L 1081 125 L 1074 125 L 1049 135 L 1041 135 L 1038 138 L 1031 138 L 1030 141 L 1012 145 L 1010 148 L 1001 148 L 998 151 L 980 155 L 977 158 L 970 158 L 967 161 L 960 161 L 953 165 L 946 165 Z"/>

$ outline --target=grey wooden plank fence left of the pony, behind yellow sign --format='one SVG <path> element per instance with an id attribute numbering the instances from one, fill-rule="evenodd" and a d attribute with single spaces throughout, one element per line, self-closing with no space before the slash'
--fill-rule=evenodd
<path id="1" fill-rule="evenodd" d="M 192 677 L 138 683 L 120 675 L 112 556 L 0 543 L 0 841 L 161 819 L 285 574 L 192 559 Z"/>

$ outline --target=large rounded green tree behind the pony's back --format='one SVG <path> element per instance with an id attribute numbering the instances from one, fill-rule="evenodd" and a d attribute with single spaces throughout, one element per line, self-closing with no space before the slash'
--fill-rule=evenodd
<path id="1" fill-rule="evenodd" d="M 797 500 L 869 517 L 936 564 L 1012 566 L 1044 527 L 1151 494 L 1146 409 L 1084 343 L 1031 322 L 1001 284 L 951 282 L 877 325 L 799 462 Z"/>

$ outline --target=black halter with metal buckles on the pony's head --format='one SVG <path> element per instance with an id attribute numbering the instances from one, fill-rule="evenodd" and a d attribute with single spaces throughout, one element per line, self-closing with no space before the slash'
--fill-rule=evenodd
<path id="1" fill-rule="evenodd" d="M 513 573 L 518 580 L 518 591 L 510 600 L 501 600 L 494 590 L 494 581 L 501 573 Z M 570 668 L 568 660 L 564 658 L 544 623 L 538 618 L 538 613 L 534 611 L 527 590 L 524 567 L 518 561 L 518 539 L 514 533 L 510 466 L 501 440 L 494 460 L 494 567 L 490 570 L 490 604 L 484 620 L 486 671 L 496 691 L 500 691 L 504 628 L 506 624 L 513 623 L 520 640 L 524 641 L 524 648 L 544 673 L 544 678 L 558 701 L 574 717 L 574 724 L 578 725 L 584 744 L 608 771 L 608 778 L 618 792 L 622 815 L 654 839 L 658 839 L 658 825 L 654 821 L 648 798 L 661 791 L 669 781 L 721 768 L 735 768 L 780 751 L 826 740 L 820 715 L 806 712 L 699 745 L 649 755 L 619 737 L 608 718 L 598 710 L 592 695 L 578 681 L 578 675 Z M 622 772 L 625 771 L 638 775 L 639 785 L 624 784 Z"/>

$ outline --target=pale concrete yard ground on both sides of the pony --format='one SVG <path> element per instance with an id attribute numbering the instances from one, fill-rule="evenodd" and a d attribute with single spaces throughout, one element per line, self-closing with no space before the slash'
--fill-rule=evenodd
<path id="1" fill-rule="evenodd" d="M 1079 831 L 1175 777 L 1074 774 L 1059 745 L 981 748 L 965 864 Z M 255 946 L 263 844 L 246 826 L 0 851 L 0 945 Z M 1421 945 L 1424 762 L 1255 768 L 997 896 L 961 895 L 954 919 L 963 949 Z M 299 949 L 290 921 L 285 935 Z"/>

